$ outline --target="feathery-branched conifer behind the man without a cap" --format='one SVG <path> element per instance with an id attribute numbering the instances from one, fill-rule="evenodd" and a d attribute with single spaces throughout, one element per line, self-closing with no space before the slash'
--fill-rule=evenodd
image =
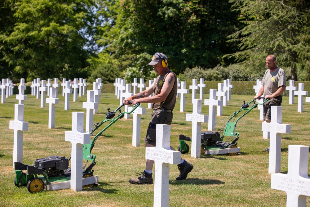
<path id="1" fill-rule="evenodd" d="M 230 35 L 241 51 L 227 55 L 262 73 L 265 58 L 277 57 L 277 65 L 289 71 L 288 78 L 310 80 L 310 10 L 306 0 L 230 1 L 246 26 Z"/>

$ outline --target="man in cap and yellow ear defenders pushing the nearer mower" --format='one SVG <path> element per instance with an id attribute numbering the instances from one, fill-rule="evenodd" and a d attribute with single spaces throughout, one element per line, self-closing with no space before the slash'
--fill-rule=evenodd
<path id="1" fill-rule="evenodd" d="M 153 70 L 158 74 L 154 83 L 144 91 L 126 98 L 123 103 L 129 105 L 132 101 L 133 105 L 137 103 L 153 103 L 153 112 L 151 122 L 148 124 L 148 131 L 144 138 L 146 147 L 155 147 L 156 145 L 156 125 L 171 124 L 172 110 L 175 107 L 177 94 L 176 75 L 168 68 L 167 56 L 163 53 L 156 52 L 152 61 L 148 65 L 153 65 Z M 154 92 L 154 96 L 149 97 Z M 170 148 L 173 149 L 171 146 Z M 152 184 L 153 183 L 153 160 L 146 160 L 144 172 L 139 178 L 131 178 L 132 184 Z M 181 163 L 178 164 L 180 175 L 177 180 L 184 180 L 187 174 L 192 171 L 193 165 L 181 158 Z"/>

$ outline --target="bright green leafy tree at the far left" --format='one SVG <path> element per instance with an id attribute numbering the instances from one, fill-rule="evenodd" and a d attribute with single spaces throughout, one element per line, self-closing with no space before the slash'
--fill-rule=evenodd
<path id="1" fill-rule="evenodd" d="M 1 52 L 15 79 L 87 77 L 101 24 L 95 0 L 20 0 L 14 9 L 15 25 L 1 39 L 11 51 Z"/>

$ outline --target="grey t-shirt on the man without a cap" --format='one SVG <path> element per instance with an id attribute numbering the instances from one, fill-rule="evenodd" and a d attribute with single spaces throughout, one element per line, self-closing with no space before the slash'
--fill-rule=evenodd
<path id="1" fill-rule="evenodd" d="M 264 86 L 263 96 L 272 95 L 280 86 L 286 86 L 284 70 L 278 67 L 274 72 L 270 72 L 270 70 L 267 69 L 262 79 L 262 84 Z"/>

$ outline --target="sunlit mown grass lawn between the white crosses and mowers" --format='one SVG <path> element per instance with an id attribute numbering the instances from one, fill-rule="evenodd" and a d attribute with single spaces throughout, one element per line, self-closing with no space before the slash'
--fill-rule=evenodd
<path id="1" fill-rule="evenodd" d="M 205 98 L 208 98 L 205 94 Z M 33 164 L 34 160 L 50 155 L 70 157 L 71 143 L 66 142 L 65 131 L 71 131 L 72 112 L 81 111 L 86 96 L 73 102 L 70 97 L 70 110 L 64 110 L 64 97 L 58 94 L 56 104 L 55 128 L 48 128 L 48 104 L 40 108 L 40 99 L 28 95 L 24 101 L 24 121 L 29 122 L 29 131 L 23 135 L 23 163 Z M 223 116 L 216 117 L 216 130 L 220 130 L 229 115 L 240 109 L 243 100 L 250 102 L 253 96 L 232 95 Z M 141 116 L 141 146 L 133 147 L 132 116 L 120 119 L 96 141 L 92 151 L 96 155 L 94 174 L 99 176 L 99 186 L 84 188 L 74 192 L 71 189 L 42 191 L 31 194 L 26 187 L 15 187 L 13 168 L 13 130 L 9 121 L 14 120 L 15 95 L 0 104 L 0 206 L 153 206 L 154 185 L 132 185 L 128 182 L 135 173 L 145 169 L 145 136 L 150 121 L 151 109 Z M 100 98 L 98 114 L 94 123 L 104 119 L 107 108 L 115 110 L 119 100 L 114 94 L 104 93 Z M 288 145 L 307 145 L 310 143 L 310 103 L 304 103 L 303 113 L 297 112 L 297 97 L 294 105 L 288 104 L 288 97 L 282 102 L 282 123 L 291 124 L 291 133 L 282 134 L 281 173 L 287 173 Z M 147 107 L 143 104 L 142 107 Z M 186 113 L 192 113 L 191 94 L 186 97 L 186 112 L 179 112 L 180 103 L 174 110 L 171 124 L 171 146 L 177 148 L 178 136 L 191 136 L 192 123 L 185 121 Z M 202 114 L 208 114 L 208 106 L 202 106 Z M 86 118 L 86 114 L 85 114 Z M 236 156 L 203 155 L 195 159 L 188 154 L 182 157 L 194 165 L 193 171 L 184 181 L 176 181 L 179 175 L 176 165 L 170 165 L 169 206 L 286 206 L 286 193 L 270 188 L 271 175 L 268 174 L 269 140 L 263 139 L 259 111 L 252 110 L 242 118 L 236 131 L 240 133 L 238 146 L 241 153 Z M 85 123 L 84 123 L 85 125 Z M 202 131 L 207 131 L 208 123 L 202 123 Z M 93 137 L 93 136 L 92 136 Z M 189 143 L 190 144 L 190 143 Z M 154 171 L 153 171 L 154 172 Z M 310 200 L 307 199 L 307 206 Z"/>

